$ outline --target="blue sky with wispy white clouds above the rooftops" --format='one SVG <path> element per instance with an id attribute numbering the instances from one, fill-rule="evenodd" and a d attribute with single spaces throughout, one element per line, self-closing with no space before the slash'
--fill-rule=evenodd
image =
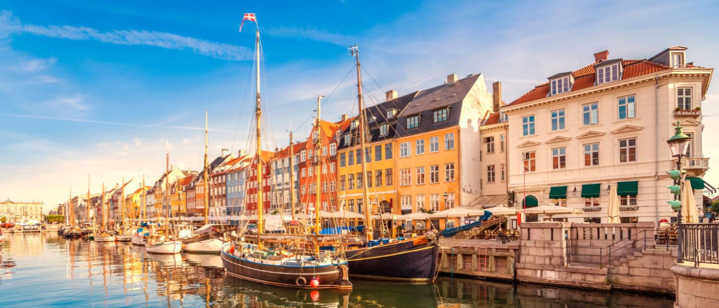
<path id="1" fill-rule="evenodd" d="M 88 172 L 93 191 L 151 179 L 164 168 L 165 140 L 172 164 L 197 169 L 204 110 L 211 154 L 244 148 L 254 25 L 237 29 L 246 12 L 262 29 L 271 147 L 287 144 L 290 121 L 298 136 L 308 131 L 300 124 L 352 67 L 354 43 L 377 99 L 483 73 L 509 102 L 601 50 L 641 59 L 684 45 L 689 61 L 717 66 L 719 5 L 710 1 L 262 2 L 0 0 L 0 197 L 49 208 L 70 187 L 85 191 Z M 352 82 L 326 101 L 324 118 L 352 111 Z M 715 88 L 707 115 L 719 114 Z M 705 131 L 719 131 L 712 122 Z M 717 184 L 715 174 L 707 179 Z"/>

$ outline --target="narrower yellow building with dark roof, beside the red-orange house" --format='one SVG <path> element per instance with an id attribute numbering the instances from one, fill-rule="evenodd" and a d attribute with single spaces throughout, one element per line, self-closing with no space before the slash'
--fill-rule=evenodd
<path id="1" fill-rule="evenodd" d="M 353 119 L 340 128 L 336 135 L 338 198 L 347 210 L 364 213 L 362 193 L 367 185 L 367 197 L 372 213 L 394 213 L 400 215 L 395 181 L 395 142 L 397 116 L 417 92 L 397 98 L 397 92 L 390 90 L 383 103 L 365 108 L 367 140 L 365 151 L 360 150 L 357 126 Z M 346 127 L 349 126 L 349 127 Z M 362 175 L 362 158 L 365 159 L 366 174 Z"/>

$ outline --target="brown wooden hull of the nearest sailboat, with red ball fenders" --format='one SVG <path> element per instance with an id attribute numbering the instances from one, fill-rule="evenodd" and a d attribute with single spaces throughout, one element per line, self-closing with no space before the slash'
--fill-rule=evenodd
<path id="1" fill-rule="evenodd" d="M 230 243 L 222 246 L 220 257 L 227 274 L 239 279 L 286 286 L 298 289 L 352 289 L 347 275 L 347 263 L 328 266 L 277 266 L 248 261 L 228 252 Z M 310 281 L 316 277 L 319 286 L 313 288 Z"/>

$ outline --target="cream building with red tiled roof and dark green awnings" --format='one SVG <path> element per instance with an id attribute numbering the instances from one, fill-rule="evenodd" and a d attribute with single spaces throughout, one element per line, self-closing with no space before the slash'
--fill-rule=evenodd
<path id="1" fill-rule="evenodd" d="M 713 69 L 687 63 L 681 46 L 644 60 L 608 55 L 597 52 L 592 64 L 552 75 L 500 108 L 511 123 L 505 146 L 516 207 L 523 200 L 566 205 L 583 210 L 569 221 L 605 223 L 610 186 L 617 186 L 622 222 L 674 218 L 665 187 L 674 167 L 667 139 L 677 121 L 693 137 L 684 169 L 701 205 L 708 169 L 701 105 Z"/>

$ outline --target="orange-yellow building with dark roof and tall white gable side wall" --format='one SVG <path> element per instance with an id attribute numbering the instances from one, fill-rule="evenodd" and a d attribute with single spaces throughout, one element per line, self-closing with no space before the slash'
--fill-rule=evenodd
<path id="1" fill-rule="evenodd" d="M 470 205 L 481 195 L 480 125 L 493 109 L 482 75 L 417 93 L 398 116 L 396 179 L 402 213 L 436 213 Z M 408 220 L 405 229 L 431 228 Z M 454 218 L 431 220 L 434 228 L 454 228 Z"/>

